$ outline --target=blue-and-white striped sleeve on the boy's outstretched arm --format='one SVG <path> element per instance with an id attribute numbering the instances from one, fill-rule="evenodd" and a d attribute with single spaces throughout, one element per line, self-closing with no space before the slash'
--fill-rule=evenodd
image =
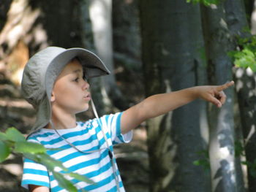
<path id="1" fill-rule="evenodd" d="M 113 145 L 132 140 L 132 131 L 129 131 L 127 134 L 121 134 L 121 115 L 123 115 L 123 112 L 105 115 L 100 118 L 104 131 L 110 134 Z"/>

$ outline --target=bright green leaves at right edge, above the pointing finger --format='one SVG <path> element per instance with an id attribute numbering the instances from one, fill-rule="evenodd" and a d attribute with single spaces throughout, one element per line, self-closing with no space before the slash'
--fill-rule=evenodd
<path id="1" fill-rule="evenodd" d="M 256 72 L 256 36 L 237 37 L 238 50 L 233 50 L 228 55 L 233 58 L 237 67 L 250 68 Z"/>

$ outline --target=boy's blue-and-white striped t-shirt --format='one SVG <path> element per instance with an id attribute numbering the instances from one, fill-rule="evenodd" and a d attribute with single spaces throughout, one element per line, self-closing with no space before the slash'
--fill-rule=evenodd
<path id="1" fill-rule="evenodd" d="M 70 171 L 82 174 L 94 181 L 94 184 L 71 180 L 78 189 L 86 191 L 113 191 L 116 192 L 116 180 L 112 169 L 108 147 L 100 125 L 104 129 L 108 138 L 108 145 L 113 151 L 113 145 L 121 142 L 129 142 L 132 139 L 132 132 L 121 134 L 121 114 L 105 115 L 102 118 L 77 122 L 75 128 L 59 129 L 58 132 L 68 142 L 75 145 L 79 150 L 88 153 L 80 153 L 71 147 L 64 139 L 59 137 L 53 129 L 42 128 L 29 137 L 29 142 L 37 142 L 46 148 L 59 148 L 59 150 L 48 150 L 51 157 L 62 162 Z M 99 123 L 100 121 L 100 123 Z M 101 149 L 101 150 L 99 150 Z M 93 152 L 91 152 L 93 151 Z M 116 160 L 115 160 L 116 165 Z M 124 186 L 116 165 L 116 175 L 118 175 L 120 191 L 124 192 Z M 42 164 L 37 164 L 27 158 L 24 159 L 23 166 L 23 187 L 28 185 L 42 185 L 50 188 L 51 192 L 64 192 L 53 174 Z M 78 190 L 79 191 L 79 190 Z"/>

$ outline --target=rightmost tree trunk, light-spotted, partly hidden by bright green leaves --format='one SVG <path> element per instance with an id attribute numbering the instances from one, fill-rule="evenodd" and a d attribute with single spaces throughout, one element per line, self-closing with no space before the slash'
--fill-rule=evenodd
<path id="1" fill-rule="evenodd" d="M 249 28 L 249 24 L 246 20 L 246 13 L 244 11 L 243 1 L 230 1 L 226 2 L 227 15 L 231 15 L 229 23 L 230 31 L 235 37 L 249 37 L 248 31 L 244 31 L 244 28 Z M 252 18 L 253 20 L 254 18 Z M 235 21 L 235 22 L 234 22 Z M 254 26 L 252 26 L 253 30 Z M 235 44 L 236 42 L 234 42 Z M 236 44 L 235 44 L 236 45 Z M 244 146 L 246 159 L 244 161 L 253 163 L 256 159 L 256 106 L 255 106 L 255 80 L 256 75 L 252 73 L 250 69 L 235 69 L 234 76 L 236 78 L 236 92 L 238 93 L 238 104 L 241 115 L 241 127 L 244 135 Z M 252 167 L 247 167 L 248 173 L 245 172 L 245 176 L 248 174 L 248 186 L 246 188 L 250 192 L 255 191 L 256 183 L 255 177 L 252 176 Z M 246 181 L 246 180 L 245 180 Z"/>

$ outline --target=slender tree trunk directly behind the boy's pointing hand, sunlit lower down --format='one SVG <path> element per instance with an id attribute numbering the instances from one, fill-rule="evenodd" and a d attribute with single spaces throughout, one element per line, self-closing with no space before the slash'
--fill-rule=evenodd
<path id="1" fill-rule="evenodd" d="M 227 52 L 232 48 L 223 4 L 206 8 L 203 15 L 208 43 L 208 64 L 211 83 L 221 85 L 232 80 L 232 62 Z M 207 24 L 206 24 L 207 23 Z M 236 186 L 233 88 L 225 91 L 227 101 L 221 109 L 211 107 L 210 163 L 212 191 L 234 192 Z"/>

